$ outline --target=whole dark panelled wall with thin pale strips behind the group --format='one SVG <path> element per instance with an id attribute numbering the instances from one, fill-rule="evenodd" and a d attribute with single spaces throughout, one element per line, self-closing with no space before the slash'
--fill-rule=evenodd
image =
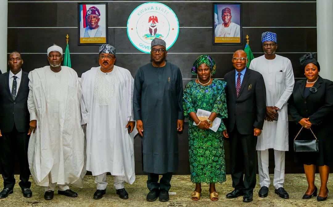
<path id="1" fill-rule="evenodd" d="M 72 67 L 78 75 L 91 67 L 98 66 L 99 46 L 78 46 L 78 8 L 75 0 L 10 0 L 8 3 L 8 52 L 22 52 L 23 70 L 48 65 L 46 50 L 52 44 L 65 49 L 65 36 L 70 36 Z M 311 0 L 306 0 L 311 1 Z M 98 1 L 96 1 L 98 2 Z M 103 1 L 101 1 L 103 2 Z M 232 1 L 227 1 L 232 2 Z M 250 46 L 254 56 L 262 55 L 261 33 L 277 33 L 277 53 L 288 57 L 293 65 L 296 80 L 303 78 L 303 68 L 298 58 L 305 52 L 317 51 L 316 3 L 290 0 L 282 1 L 242 1 L 242 38 L 250 37 Z M 150 54 L 137 50 L 129 41 L 126 31 L 127 20 L 131 12 L 143 2 L 109 2 L 108 3 L 108 43 L 117 50 L 116 65 L 129 69 L 135 76 L 139 66 L 150 61 Z M 243 45 L 212 46 L 212 3 L 191 1 L 164 2 L 177 15 L 179 36 L 169 49 L 167 61 L 178 65 L 183 76 L 183 85 L 195 76 L 190 68 L 197 56 L 203 53 L 211 55 L 216 62 L 215 78 L 223 78 L 232 70 L 232 53 L 244 49 Z M 199 27 L 199 28 L 193 28 Z M 179 171 L 189 173 L 187 126 L 179 134 Z M 293 161 L 292 139 L 299 127 L 289 122 L 289 146 L 286 153 L 286 173 L 303 172 L 302 166 Z M 274 158 L 270 152 L 270 172 L 273 172 Z M 229 173 L 229 142 L 225 141 L 227 173 Z M 141 138 L 135 139 L 136 173 L 142 171 Z"/>

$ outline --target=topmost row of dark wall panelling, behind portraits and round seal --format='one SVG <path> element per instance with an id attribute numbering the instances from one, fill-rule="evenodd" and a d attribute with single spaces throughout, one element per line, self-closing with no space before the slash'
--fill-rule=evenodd
<path id="1" fill-rule="evenodd" d="M 20 4 L 19 8 L 18 4 Z M 128 17 L 141 4 L 141 2 L 109 2 L 108 27 L 126 27 Z M 164 4 L 177 15 L 180 27 L 212 26 L 210 12 L 212 3 L 210 2 L 164 2 Z M 316 3 L 309 2 L 244 2 L 242 26 L 316 27 L 315 5 Z M 10 10 L 17 12 L 8 13 L 8 18 L 11 20 L 9 27 L 22 27 L 22 24 L 25 27 L 77 27 L 76 2 L 9 3 L 8 11 Z M 29 18 L 22 18 L 22 16 Z M 32 21 L 32 19 L 38 21 Z"/>

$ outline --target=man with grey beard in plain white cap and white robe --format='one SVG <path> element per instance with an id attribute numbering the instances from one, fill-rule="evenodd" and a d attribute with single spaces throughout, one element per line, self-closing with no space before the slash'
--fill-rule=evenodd
<path id="1" fill-rule="evenodd" d="M 80 87 L 77 73 L 61 66 L 62 48 L 47 49 L 50 65 L 36 68 L 29 77 L 28 109 L 31 130 L 28 161 L 31 175 L 45 187 L 44 198 L 58 194 L 77 197 L 68 184 L 83 187 L 84 134 L 81 128 Z"/>

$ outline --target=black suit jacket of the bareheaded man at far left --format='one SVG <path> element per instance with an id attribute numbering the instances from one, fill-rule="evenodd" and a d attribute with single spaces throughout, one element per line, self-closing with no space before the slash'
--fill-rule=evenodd
<path id="1" fill-rule="evenodd" d="M 15 125 L 18 132 L 29 130 L 28 111 L 29 79 L 28 73 L 22 71 L 20 88 L 13 100 L 9 91 L 9 72 L 0 74 L 0 130 L 9 133 Z"/>

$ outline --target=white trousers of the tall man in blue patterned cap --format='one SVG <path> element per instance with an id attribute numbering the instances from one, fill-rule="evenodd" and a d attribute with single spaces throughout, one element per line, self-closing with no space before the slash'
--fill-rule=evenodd
<path id="1" fill-rule="evenodd" d="M 268 173 L 268 149 L 258 150 L 258 171 L 259 171 L 259 184 L 260 187 L 269 187 L 270 179 Z M 274 150 L 274 180 L 273 185 L 275 189 L 283 187 L 284 183 L 284 163 L 285 163 L 285 152 Z"/>

